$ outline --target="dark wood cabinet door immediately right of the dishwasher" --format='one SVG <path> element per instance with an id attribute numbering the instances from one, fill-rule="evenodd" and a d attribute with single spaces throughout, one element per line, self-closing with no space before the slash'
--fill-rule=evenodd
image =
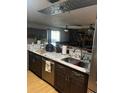
<path id="1" fill-rule="evenodd" d="M 65 67 L 59 64 L 55 64 L 55 88 L 61 93 L 65 93 L 65 78 Z"/>

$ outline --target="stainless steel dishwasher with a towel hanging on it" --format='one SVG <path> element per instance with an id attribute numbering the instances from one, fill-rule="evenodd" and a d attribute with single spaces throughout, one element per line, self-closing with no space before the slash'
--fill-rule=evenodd
<path id="1" fill-rule="evenodd" d="M 55 64 L 53 61 L 47 58 L 42 58 L 42 79 L 51 85 L 54 85 L 54 68 Z M 46 62 L 50 63 L 51 71 L 46 71 Z"/>

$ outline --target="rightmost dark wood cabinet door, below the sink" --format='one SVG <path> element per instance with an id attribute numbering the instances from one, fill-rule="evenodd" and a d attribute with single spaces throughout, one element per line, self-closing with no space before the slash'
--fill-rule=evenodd
<path id="1" fill-rule="evenodd" d="M 69 78 L 70 92 L 69 93 L 87 93 L 88 78 L 86 75 L 77 71 L 72 71 Z"/>

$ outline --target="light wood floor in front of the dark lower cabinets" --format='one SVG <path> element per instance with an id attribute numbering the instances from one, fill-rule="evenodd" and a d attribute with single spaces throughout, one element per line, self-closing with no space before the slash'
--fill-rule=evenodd
<path id="1" fill-rule="evenodd" d="M 58 93 L 52 86 L 28 70 L 27 93 Z"/>

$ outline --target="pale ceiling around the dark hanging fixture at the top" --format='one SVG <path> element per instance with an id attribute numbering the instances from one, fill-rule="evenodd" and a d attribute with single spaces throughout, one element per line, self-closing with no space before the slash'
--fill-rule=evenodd
<path id="1" fill-rule="evenodd" d="M 60 0 L 60 3 L 65 0 Z M 54 4 L 56 4 L 54 3 Z M 57 15 L 45 15 L 38 10 L 47 8 L 53 5 L 47 0 L 27 0 L 27 20 L 28 23 L 38 23 L 41 25 L 53 26 L 53 27 L 65 27 L 70 26 L 84 26 L 94 24 L 97 16 L 97 5 L 92 5 L 85 8 L 72 10 Z"/>

